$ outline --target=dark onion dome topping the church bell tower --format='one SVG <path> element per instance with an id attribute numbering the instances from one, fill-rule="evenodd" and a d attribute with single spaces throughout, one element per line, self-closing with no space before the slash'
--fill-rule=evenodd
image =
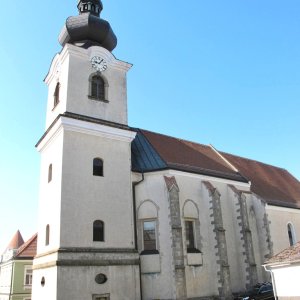
<path id="1" fill-rule="evenodd" d="M 59 43 L 89 47 L 99 45 L 109 51 L 117 46 L 117 37 L 110 24 L 100 18 L 101 0 L 78 0 L 79 15 L 66 20 L 59 35 Z"/>

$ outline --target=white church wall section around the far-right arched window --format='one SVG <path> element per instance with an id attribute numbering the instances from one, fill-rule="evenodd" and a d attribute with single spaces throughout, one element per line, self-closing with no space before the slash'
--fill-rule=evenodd
<path id="1" fill-rule="evenodd" d="M 273 241 L 273 254 L 290 247 L 287 224 L 292 223 L 296 242 L 300 238 L 300 210 L 267 205 L 266 207 Z"/>

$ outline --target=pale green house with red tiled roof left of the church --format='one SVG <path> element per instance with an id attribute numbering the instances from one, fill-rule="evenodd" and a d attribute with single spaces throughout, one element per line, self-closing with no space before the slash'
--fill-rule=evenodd
<path id="1" fill-rule="evenodd" d="M 30 300 L 32 260 L 36 254 L 37 234 L 26 243 L 18 231 L 1 256 L 0 300 Z"/>

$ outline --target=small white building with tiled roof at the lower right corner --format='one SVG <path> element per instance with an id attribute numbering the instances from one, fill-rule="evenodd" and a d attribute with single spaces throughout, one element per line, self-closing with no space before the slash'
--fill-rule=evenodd
<path id="1" fill-rule="evenodd" d="M 273 256 L 264 267 L 272 274 L 278 300 L 300 299 L 300 242 Z"/>

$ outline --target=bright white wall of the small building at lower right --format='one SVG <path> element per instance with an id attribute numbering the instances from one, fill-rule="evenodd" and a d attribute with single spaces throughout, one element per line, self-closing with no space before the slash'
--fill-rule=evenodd
<path id="1" fill-rule="evenodd" d="M 279 299 L 300 298 L 300 264 L 295 263 L 278 268 L 271 268 L 274 274 L 276 295 Z"/>

